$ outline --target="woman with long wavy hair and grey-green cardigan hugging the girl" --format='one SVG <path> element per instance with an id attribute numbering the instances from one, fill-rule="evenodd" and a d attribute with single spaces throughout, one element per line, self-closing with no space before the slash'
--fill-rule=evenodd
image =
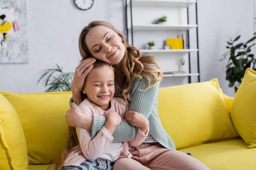
<path id="1" fill-rule="evenodd" d="M 132 147 L 132 159 L 121 158 L 113 165 L 114 170 L 209 170 L 209 168 L 186 153 L 176 150 L 175 144 L 161 125 L 157 113 L 159 82 L 163 77 L 157 59 L 143 55 L 133 45 L 128 45 L 125 36 L 111 24 L 94 21 L 84 27 L 79 37 L 79 51 L 84 59 L 76 68 L 72 83 L 73 99 L 80 103 L 83 79 L 92 69 L 95 58 L 115 68 L 115 96 L 130 102 L 129 111 L 141 113 L 149 121 L 149 133 L 143 144 Z M 93 56 L 93 57 L 91 57 Z M 125 116 L 116 126 L 113 141 L 130 141 L 135 138 L 137 127 L 130 123 L 136 116 Z M 66 115 L 70 126 L 79 126 L 92 131 L 92 137 L 106 123 L 104 116 L 87 116 L 71 108 Z"/>

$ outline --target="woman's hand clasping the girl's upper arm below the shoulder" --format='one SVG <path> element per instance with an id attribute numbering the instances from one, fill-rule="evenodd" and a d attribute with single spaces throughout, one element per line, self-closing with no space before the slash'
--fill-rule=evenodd
<path id="1" fill-rule="evenodd" d="M 93 117 L 85 115 L 81 109 L 73 102 L 70 110 L 66 114 L 66 122 L 73 127 L 82 127 L 86 130 L 92 130 Z"/>

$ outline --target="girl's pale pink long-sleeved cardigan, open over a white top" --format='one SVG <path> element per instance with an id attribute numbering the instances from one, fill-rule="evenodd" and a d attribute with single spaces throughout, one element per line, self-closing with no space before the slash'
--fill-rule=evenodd
<path id="1" fill-rule="evenodd" d="M 98 105 L 90 102 L 88 99 L 84 99 L 84 101 L 80 103 L 79 108 L 81 109 L 82 113 L 90 116 L 93 114 L 103 116 L 104 113 L 116 111 L 116 113 L 118 113 L 122 119 L 125 118 L 125 113 L 128 111 L 127 104 L 122 98 L 119 97 L 113 97 L 113 99 L 111 99 L 111 108 L 107 111 L 102 110 Z M 119 153 L 119 158 L 131 158 L 132 155 L 128 151 L 129 144 L 134 147 L 139 146 L 147 137 L 148 131 L 149 129 L 147 130 L 147 133 L 144 134 L 141 132 L 141 130 L 138 130 L 134 140 L 123 142 L 123 148 Z M 79 139 L 79 145 L 71 149 L 67 159 L 64 160 L 63 166 L 79 166 L 85 160 L 96 160 L 96 158 L 101 155 L 101 153 L 113 140 L 113 136 L 110 136 L 108 134 L 109 132 L 106 133 L 106 129 L 103 128 L 93 139 L 91 138 L 91 131 L 84 128 L 76 127 L 76 133 Z"/>

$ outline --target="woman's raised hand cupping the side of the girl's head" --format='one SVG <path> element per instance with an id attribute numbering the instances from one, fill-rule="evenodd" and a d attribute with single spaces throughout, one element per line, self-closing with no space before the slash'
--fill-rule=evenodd
<path id="1" fill-rule="evenodd" d="M 71 91 L 73 102 L 79 104 L 81 102 L 81 90 L 84 87 L 84 80 L 87 74 L 93 69 L 93 63 L 96 61 L 94 57 L 84 59 L 77 67 L 74 74 Z"/>

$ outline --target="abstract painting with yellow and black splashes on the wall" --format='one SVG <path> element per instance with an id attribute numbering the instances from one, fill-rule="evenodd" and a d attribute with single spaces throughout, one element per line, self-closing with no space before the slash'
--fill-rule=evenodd
<path id="1" fill-rule="evenodd" d="M 26 0 L 1 0 L 0 64 L 27 62 Z"/>

